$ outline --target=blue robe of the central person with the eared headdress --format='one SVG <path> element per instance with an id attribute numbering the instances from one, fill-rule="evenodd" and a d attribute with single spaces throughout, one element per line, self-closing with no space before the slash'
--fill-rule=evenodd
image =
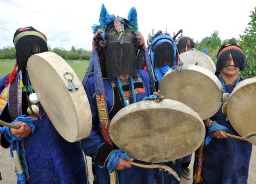
<path id="1" fill-rule="evenodd" d="M 141 101 L 145 96 L 151 95 L 151 83 L 148 76 L 148 73 L 143 70 L 137 70 L 137 73 L 140 78 L 143 80 L 143 85 L 145 87 L 145 93 L 136 94 L 137 102 Z M 97 129 L 96 124 L 99 124 L 98 120 L 98 111 L 96 108 L 96 100 L 93 98 L 95 94 L 94 88 L 94 77 L 92 74 L 89 76 L 86 85 L 84 86 L 86 90 L 87 97 L 90 102 L 90 108 L 92 111 L 93 118 L 93 127 L 90 136 L 81 141 L 82 147 L 86 155 L 93 157 L 99 147 L 102 146 L 104 140 L 102 139 L 101 132 Z M 111 83 L 104 79 L 104 87 L 105 87 L 105 96 L 107 99 L 107 109 L 111 109 L 113 106 L 113 88 Z M 137 161 L 135 162 L 142 164 L 149 164 L 149 162 Z M 181 161 L 176 161 L 175 164 L 172 162 L 163 163 L 164 165 L 168 165 L 173 170 L 175 170 L 180 176 L 181 170 Z M 105 167 L 100 167 L 98 164 L 95 164 L 97 183 L 99 184 L 109 184 L 110 178 L 108 174 L 108 170 Z M 178 180 L 176 180 L 173 176 L 170 176 L 166 171 L 158 170 L 158 169 L 146 169 L 132 166 L 131 168 L 126 168 L 122 171 L 117 171 L 119 183 L 122 184 L 178 184 Z"/>

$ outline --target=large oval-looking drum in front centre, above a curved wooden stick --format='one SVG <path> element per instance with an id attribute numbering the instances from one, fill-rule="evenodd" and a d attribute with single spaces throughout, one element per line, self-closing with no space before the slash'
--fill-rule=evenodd
<path id="1" fill-rule="evenodd" d="M 144 100 L 121 109 L 110 123 L 114 144 L 146 162 L 167 162 L 193 153 L 205 126 L 195 111 L 175 100 Z"/>

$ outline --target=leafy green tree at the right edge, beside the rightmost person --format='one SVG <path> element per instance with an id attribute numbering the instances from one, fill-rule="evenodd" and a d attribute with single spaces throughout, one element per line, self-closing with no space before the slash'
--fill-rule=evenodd
<path id="1" fill-rule="evenodd" d="M 248 28 L 243 35 L 240 35 L 240 45 L 248 57 L 248 66 L 242 72 L 242 76 L 246 78 L 256 76 L 256 7 L 251 11 L 250 17 L 251 22 L 248 23 Z"/>

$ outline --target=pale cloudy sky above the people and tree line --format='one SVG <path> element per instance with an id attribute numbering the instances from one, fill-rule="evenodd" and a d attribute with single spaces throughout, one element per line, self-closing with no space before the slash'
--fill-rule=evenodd
<path id="1" fill-rule="evenodd" d="M 48 37 L 51 48 L 92 49 L 93 24 L 99 24 L 101 4 L 109 14 L 127 18 L 132 7 L 137 10 L 139 30 L 145 40 L 149 32 L 178 32 L 195 41 L 215 30 L 222 40 L 239 38 L 251 21 L 256 0 L 0 0 L 0 49 L 13 46 L 18 28 L 33 26 Z"/>

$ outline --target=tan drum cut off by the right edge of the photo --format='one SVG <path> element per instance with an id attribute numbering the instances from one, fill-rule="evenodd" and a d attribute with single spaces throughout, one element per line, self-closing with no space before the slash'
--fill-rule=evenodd
<path id="1" fill-rule="evenodd" d="M 231 126 L 241 136 L 256 132 L 256 77 L 239 82 L 227 102 Z M 256 136 L 247 141 L 256 145 Z"/>

